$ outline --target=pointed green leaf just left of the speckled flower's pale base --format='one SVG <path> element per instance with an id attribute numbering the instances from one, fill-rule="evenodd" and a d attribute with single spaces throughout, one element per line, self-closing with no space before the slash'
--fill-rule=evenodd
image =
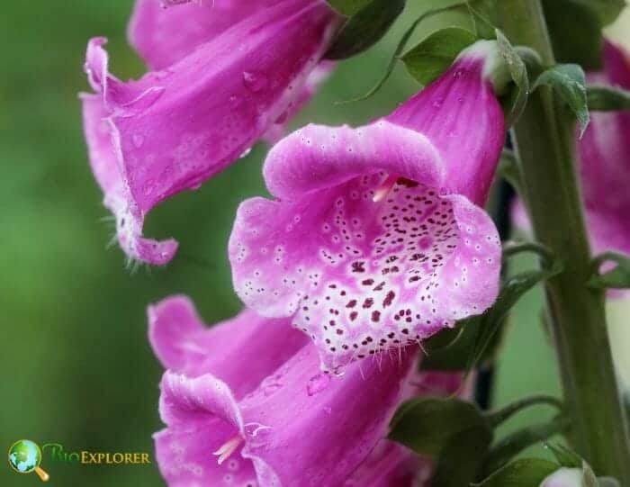
<path id="1" fill-rule="evenodd" d="M 420 85 L 427 86 L 453 64 L 464 48 L 476 41 L 473 32 L 460 27 L 447 27 L 433 32 L 413 49 L 407 51 L 401 60 Z"/>

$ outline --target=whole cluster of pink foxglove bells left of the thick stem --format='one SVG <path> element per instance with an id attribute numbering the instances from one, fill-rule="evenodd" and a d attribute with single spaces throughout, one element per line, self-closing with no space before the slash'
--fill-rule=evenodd
<path id="1" fill-rule="evenodd" d="M 154 70 L 122 82 L 96 38 L 82 96 L 121 248 L 158 265 L 176 242 L 142 236 L 147 212 L 278 140 L 342 21 L 324 0 L 164 4 L 138 0 L 130 27 Z M 498 294 L 483 205 L 505 125 L 485 42 L 382 119 L 275 144 L 274 199 L 242 203 L 229 239 L 245 311 L 206 329 L 184 297 L 149 307 L 169 485 L 428 484 L 431 462 L 384 438 L 401 401 L 466 395 L 460 374 L 419 371 L 419 343 Z"/>

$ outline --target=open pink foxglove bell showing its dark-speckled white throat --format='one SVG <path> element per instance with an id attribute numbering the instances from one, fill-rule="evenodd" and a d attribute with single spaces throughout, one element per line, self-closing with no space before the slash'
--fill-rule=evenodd
<path id="1" fill-rule="evenodd" d="M 286 137 L 264 169 L 276 200 L 238 209 L 239 297 L 292 317 L 324 370 L 417 343 L 496 299 L 500 240 L 480 207 L 505 134 L 492 47 L 464 51 L 383 120 Z"/>

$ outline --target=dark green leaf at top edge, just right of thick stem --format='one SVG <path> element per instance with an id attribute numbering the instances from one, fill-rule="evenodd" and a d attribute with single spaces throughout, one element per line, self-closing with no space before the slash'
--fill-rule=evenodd
<path id="1" fill-rule="evenodd" d="M 604 44 L 592 0 L 543 0 L 543 7 L 555 59 L 587 70 L 600 68 Z"/>

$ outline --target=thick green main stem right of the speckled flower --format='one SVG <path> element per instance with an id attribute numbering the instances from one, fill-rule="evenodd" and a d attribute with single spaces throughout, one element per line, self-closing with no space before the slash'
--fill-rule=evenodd
<path id="1" fill-rule="evenodd" d="M 537 50 L 546 65 L 554 65 L 540 0 L 501 0 L 497 8 L 510 41 Z M 564 263 L 545 292 L 572 419 L 569 440 L 598 474 L 630 485 L 627 421 L 608 342 L 604 293 L 586 286 L 591 259 L 575 171 L 574 122 L 552 91 L 541 87 L 530 96 L 512 135 L 536 239 Z"/>

